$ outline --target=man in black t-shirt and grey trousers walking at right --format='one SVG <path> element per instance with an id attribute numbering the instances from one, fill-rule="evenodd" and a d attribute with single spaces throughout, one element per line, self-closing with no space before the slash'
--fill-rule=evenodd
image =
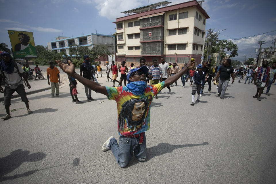
<path id="1" fill-rule="evenodd" d="M 234 69 L 231 66 L 231 60 L 230 59 L 226 59 L 224 60 L 223 66 L 221 66 L 218 70 L 218 72 L 216 73 L 216 77 L 213 79 L 216 80 L 216 78 L 218 78 L 219 76 L 219 80 L 218 80 L 218 96 L 220 96 L 221 99 L 224 99 L 224 93 L 226 91 L 227 85 L 229 83 L 229 78 L 230 75 L 232 77 L 232 83 L 235 80 L 234 77 Z"/>

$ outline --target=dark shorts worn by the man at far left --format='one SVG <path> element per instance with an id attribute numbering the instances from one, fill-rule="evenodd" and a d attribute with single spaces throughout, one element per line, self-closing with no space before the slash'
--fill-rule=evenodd
<path id="1" fill-rule="evenodd" d="M 27 98 L 27 94 L 25 92 L 25 87 L 23 84 L 20 84 L 16 89 L 10 89 L 9 87 L 5 86 L 4 90 L 4 106 L 11 105 L 11 96 L 16 91 L 18 95 L 21 97 L 21 101 L 29 102 Z"/>

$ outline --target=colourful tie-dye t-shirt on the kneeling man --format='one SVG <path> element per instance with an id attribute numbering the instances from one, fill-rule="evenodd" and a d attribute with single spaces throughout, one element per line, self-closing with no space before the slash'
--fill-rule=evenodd
<path id="1" fill-rule="evenodd" d="M 150 129 L 150 106 L 154 96 L 163 87 L 164 81 L 147 85 L 142 95 L 134 95 L 125 86 L 106 86 L 108 99 L 117 102 L 119 135 L 139 134 Z"/>

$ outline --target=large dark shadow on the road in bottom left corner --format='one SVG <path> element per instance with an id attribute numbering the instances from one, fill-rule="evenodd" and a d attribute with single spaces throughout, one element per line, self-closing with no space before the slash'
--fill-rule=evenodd
<path id="1" fill-rule="evenodd" d="M 46 157 L 46 154 L 37 152 L 30 154 L 30 151 L 22 151 L 22 149 L 11 152 L 8 156 L 0 158 L 0 182 L 5 180 L 16 179 L 19 177 L 29 176 L 38 170 L 30 170 L 22 174 L 16 174 L 13 176 L 6 176 L 16 168 L 20 167 L 23 162 L 37 162 Z"/>

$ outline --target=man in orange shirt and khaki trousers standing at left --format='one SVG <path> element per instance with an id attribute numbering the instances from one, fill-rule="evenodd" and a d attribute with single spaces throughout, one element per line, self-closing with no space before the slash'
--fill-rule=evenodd
<path id="1" fill-rule="evenodd" d="M 50 67 L 47 68 L 48 84 L 50 85 L 50 82 L 49 82 L 49 78 L 50 78 L 51 87 L 52 87 L 52 97 L 55 97 L 54 93 L 56 94 L 56 97 L 58 97 L 60 93 L 60 89 L 58 88 L 58 83 L 60 83 L 60 71 L 57 69 L 57 67 L 54 67 L 53 61 L 49 61 L 49 64 L 50 64 Z"/>

